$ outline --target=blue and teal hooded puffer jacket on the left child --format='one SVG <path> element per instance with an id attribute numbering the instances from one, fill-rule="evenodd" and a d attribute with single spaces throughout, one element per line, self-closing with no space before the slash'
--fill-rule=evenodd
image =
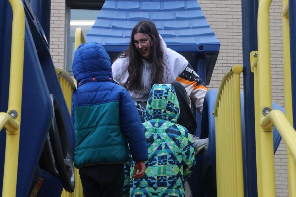
<path id="1" fill-rule="evenodd" d="M 75 167 L 125 163 L 128 144 L 135 161 L 147 160 L 140 117 L 128 91 L 114 82 L 105 49 L 98 43 L 79 46 L 72 67 L 78 84 L 72 97 Z"/>

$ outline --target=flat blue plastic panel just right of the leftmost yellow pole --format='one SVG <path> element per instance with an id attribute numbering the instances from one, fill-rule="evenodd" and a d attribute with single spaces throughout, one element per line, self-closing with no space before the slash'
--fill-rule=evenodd
<path id="1" fill-rule="evenodd" d="M 17 196 L 29 192 L 52 119 L 52 106 L 45 78 L 26 26 L 22 120 Z M 29 181 L 26 181 L 31 177 Z M 27 192 L 25 192 L 27 191 Z"/>

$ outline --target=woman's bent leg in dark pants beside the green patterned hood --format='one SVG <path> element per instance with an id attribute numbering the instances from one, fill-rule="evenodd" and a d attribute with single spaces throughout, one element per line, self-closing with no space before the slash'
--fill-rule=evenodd
<path id="1" fill-rule="evenodd" d="M 190 108 L 190 99 L 187 92 L 181 83 L 172 82 L 171 84 L 175 88 L 177 99 L 179 101 L 180 116 L 177 123 L 185 127 L 190 134 L 196 135 L 197 123 L 192 109 Z"/>

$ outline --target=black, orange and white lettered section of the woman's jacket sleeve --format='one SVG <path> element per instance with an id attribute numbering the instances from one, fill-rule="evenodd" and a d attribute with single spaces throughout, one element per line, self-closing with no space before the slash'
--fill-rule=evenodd
<path id="1" fill-rule="evenodd" d="M 202 112 L 203 101 L 208 92 L 208 88 L 190 64 L 188 64 L 185 70 L 176 78 L 176 81 L 180 82 L 185 87 L 196 109 Z"/>

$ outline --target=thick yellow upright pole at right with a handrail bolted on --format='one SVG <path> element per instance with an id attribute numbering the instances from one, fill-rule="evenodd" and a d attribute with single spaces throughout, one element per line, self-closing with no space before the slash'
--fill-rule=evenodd
<path id="1" fill-rule="evenodd" d="M 255 136 L 258 197 L 275 197 L 272 128 L 263 129 L 261 120 L 272 110 L 269 8 L 272 0 L 260 0 L 258 7 L 258 63 L 254 67 Z"/>

